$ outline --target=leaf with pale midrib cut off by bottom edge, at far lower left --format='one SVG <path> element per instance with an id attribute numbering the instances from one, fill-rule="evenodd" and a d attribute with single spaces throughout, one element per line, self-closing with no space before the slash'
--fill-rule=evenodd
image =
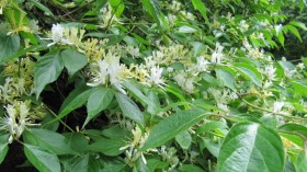
<path id="1" fill-rule="evenodd" d="M 39 172 L 60 172 L 59 160 L 54 152 L 24 144 L 24 153 Z"/>

